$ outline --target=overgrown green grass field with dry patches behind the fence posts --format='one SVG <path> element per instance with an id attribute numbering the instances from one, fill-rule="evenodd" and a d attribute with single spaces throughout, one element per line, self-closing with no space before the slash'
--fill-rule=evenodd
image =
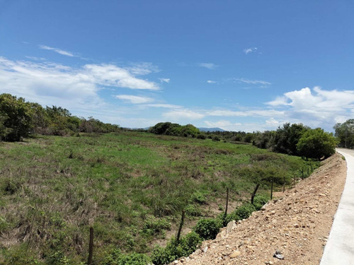
<path id="1" fill-rule="evenodd" d="M 222 213 L 227 187 L 236 207 L 256 183 L 268 195 L 270 179 L 288 185 L 307 168 L 249 145 L 130 131 L 0 143 L 0 264 L 80 264 L 91 225 L 97 261 L 149 253 L 183 209 L 193 225 Z"/>

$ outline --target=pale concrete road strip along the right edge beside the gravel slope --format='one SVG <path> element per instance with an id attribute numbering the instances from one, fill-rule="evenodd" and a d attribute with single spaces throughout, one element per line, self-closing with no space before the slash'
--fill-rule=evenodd
<path id="1" fill-rule="evenodd" d="M 320 265 L 354 264 L 354 151 L 337 148 L 347 162 L 347 179 Z"/>

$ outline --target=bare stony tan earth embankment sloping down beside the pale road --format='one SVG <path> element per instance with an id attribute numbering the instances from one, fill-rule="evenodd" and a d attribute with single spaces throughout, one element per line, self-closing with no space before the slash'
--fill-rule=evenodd
<path id="1" fill-rule="evenodd" d="M 336 153 L 263 211 L 173 264 L 319 264 L 345 182 L 346 162 Z"/>

